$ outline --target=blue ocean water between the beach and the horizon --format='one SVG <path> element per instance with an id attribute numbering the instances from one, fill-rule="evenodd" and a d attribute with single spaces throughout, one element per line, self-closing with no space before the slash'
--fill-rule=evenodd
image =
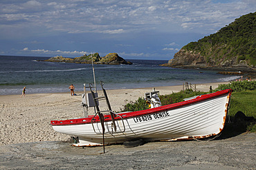
<path id="1" fill-rule="evenodd" d="M 84 83 L 93 84 L 90 64 L 51 63 L 37 60 L 49 57 L 0 56 L 0 95 L 83 91 Z M 100 81 L 105 89 L 129 89 L 231 81 L 237 76 L 217 74 L 214 70 L 187 70 L 161 67 L 167 61 L 127 60 L 133 65 L 94 65 L 96 87 Z"/>

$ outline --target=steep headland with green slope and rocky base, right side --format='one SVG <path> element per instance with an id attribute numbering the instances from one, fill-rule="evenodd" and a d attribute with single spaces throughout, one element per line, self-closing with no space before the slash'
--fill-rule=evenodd
<path id="1" fill-rule="evenodd" d="M 256 12 L 188 43 L 163 66 L 256 72 Z"/>

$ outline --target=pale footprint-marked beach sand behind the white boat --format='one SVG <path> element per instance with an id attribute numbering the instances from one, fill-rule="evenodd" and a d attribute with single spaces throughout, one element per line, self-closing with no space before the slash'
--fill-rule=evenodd
<path id="1" fill-rule="evenodd" d="M 228 83 L 228 82 L 226 82 Z M 208 92 L 210 86 L 215 89 L 220 83 L 202 83 L 196 89 Z M 223 84 L 223 83 L 222 83 Z M 161 95 L 180 92 L 183 85 L 155 87 Z M 113 111 L 120 111 L 130 101 L 138 100 L 145 93 L 152 92 L 152 87 L 138 89 L 109 89 L 107 95 Z M 41 142 L 53 140 L 70 140 L 70 136 L 58 134 L 50 125 L 51 120 L 64 120 L 81 118 L 84 116 L 82 109 L 83 92 L 70 92 L 53 94 L 26 94 L 0 96 L 0 146 L 24 142 Z M 102 96 L 102 90 L 98 90 Z M 100 102 L 102 109 L 107 104 Z M 89 108 L 89 115 L 93 115 L 93 108 Z"/>

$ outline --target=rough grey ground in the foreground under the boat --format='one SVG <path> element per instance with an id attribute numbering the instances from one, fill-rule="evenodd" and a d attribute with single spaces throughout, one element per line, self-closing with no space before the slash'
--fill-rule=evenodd
<path id="1" fill-rule="evenodd" d="M 255 169 L 256 134 L 210 142 L 72 147 L 68 142 L 0 146 L 0 169 Z"/>

